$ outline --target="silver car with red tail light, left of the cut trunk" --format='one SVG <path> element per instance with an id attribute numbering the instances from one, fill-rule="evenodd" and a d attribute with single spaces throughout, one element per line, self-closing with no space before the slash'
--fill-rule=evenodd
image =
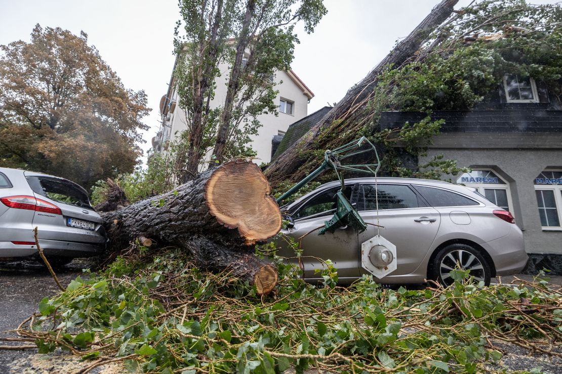
<path id="1" fill-rule="evenodd" d="M 106 244 L 102 222 L 78 184 L 0 168 L 0 260 L 37 256 L 35 227 L 53 266 L 96 255 Z"/>

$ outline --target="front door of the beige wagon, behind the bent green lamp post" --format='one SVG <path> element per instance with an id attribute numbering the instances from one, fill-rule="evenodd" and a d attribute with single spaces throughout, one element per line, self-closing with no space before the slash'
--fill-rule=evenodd
<path id="1" fill-rule="evenodd" d="M 342 280 L 359 276 L 357 230 L 346 227 L 336 229 L 334 233 L 318 234 L 320 228 L 324 227 L 324 222 L 332 218 L 336 211 L 336 192 L 339 188 L 330 187 L 311 196 L 291 212 L 294 227 L 282 230 L 297 243 L 301 241 L 305 278 L 320 278 L 318 274 L 314 274 L 314 270 L 322 269 L 321 260 L 331 260 L 338 269 L 338 277 Z M 346 186 L 345 195 L 353 203 L 352 191 L 353 186 Z M 281 245 L 283 249 L 279 252 L 280 255 L 295 256 L 294 250 L 286 243 Z"/>

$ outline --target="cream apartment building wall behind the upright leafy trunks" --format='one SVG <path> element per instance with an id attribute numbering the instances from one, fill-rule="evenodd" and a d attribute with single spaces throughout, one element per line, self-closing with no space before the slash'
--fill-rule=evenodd
<path id="1" fill-rule="evenodd" d="M 211 100 L 211 108 L 216 108 L 224 104 L 226 97 L 226 82 L 228 80 L 228 65 L 221 64 L 219 66 L 221 76 L 216 80 L 215 97 Z M 279 91 L 275 103 L 279 104 L 280 99 L 293 101 L 293 113 L 281 113 L 277 116 L 274 113 L 261 114 L 258 116 L 262 127 L 259 128 L 256 136 L 252 137 L 252 149 L 256 151 L 257 156 L 255 162 L 269 162 L 271 160 L 271 140 L 273 136 L 278 135 L 279 131 L 287 131 L 289 124 L 306 117 L 308 110 L 309 98 L 306 96 L 297 84 L 289 77 L 287 72 L 278 71 L 275 74 L 275 90 Z M 172 100 L 177 99 L 176 90 L 173 90 Z M 170 121 L 167 122 L 166 128 L 169 133 L 168 138 L 178 136 L 182 131 L 187 130 L 187 122 L 185 112 L 176 107 L 174 113 L 171 113 Z M 212 150 L 211 150 L 212 153 Z"/>

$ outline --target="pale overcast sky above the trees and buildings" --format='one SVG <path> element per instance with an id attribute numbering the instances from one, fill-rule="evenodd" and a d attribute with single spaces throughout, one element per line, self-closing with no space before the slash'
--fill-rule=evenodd
<path id="1" fill-rule="evenodd" d="M 456 8 L 468 4 L 460 0 Z M 533 2 L 554 2 L 536 0 Z M 328 14 L 314 34 L 299 33 L 293 71 L 315 97 L 308 113 L 339 101 L 396 40 L 404 38 L 438 0 L 324 0 Z M 30 40 L 31 30 L 62 27 L 88 34 L 89 44 L 121 77 L 125 87 L 144 90 L 153 108 L 144 151 L 160 123 L 158 103 L 174 63 L 175 0 L 0 0 L 0 44 Z"/>

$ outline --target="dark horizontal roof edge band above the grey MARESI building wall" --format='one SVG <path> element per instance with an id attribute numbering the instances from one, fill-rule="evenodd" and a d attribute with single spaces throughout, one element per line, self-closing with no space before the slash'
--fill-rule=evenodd
<path id="1" fill-rule="evenodd" d="M 379 126 L 397 128 L 425 117 L 419 112 L 383 112 Z M 562 132 L 562 110 L 442 110 L 431 118 L 445 119 L 441 132 Z"/>

